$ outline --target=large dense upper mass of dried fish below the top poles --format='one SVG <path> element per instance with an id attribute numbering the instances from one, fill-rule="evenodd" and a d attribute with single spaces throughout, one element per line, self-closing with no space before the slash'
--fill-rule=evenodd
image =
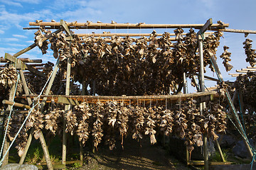
<path id="1" fill-rule="evenodd" d="M 65 73 L 67 59 L 71 58 L 71 77 L 89 84 L 91 89 L 95 86 L 96 94 L 169 94 L 178 92 L 176 85 L 183 81 L 181 72 L 189 77 L 199 72 L 196 33 L 191 29 L 183 37 L 181 28 L 174 32 L 178 41 L 174 44 L 169 33 L 156 38 L 156 31 L 149 38 L 137 39 L 91 36 L 81 40 L 75 35 L 70 42 L 63 33 L 58 33 L 50 38 L 50 48 L 54 57 L 62 60 L 60 69 Z M 204 41 L 208 56 L 205 66 L 210 64 L 209 55 L 215 55 L 222 35 L 216 32 Z"/>

